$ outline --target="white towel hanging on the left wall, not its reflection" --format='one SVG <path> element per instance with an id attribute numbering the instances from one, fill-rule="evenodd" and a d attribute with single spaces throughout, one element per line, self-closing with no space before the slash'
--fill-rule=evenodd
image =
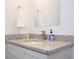
<path id="1" fill-rule="evenodd" d="M 23 28 L 24 27 L 24 15 L 22 6 L 17 7 L 17 27 Z"/>

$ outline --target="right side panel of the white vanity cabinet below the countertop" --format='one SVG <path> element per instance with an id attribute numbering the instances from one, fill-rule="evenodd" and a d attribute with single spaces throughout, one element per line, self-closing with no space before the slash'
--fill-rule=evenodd
<path id="1" fill-rule="evenodd" d="M 60 49 L 56 53 L 49 55 L 49 59 L 71 59 L 71 48 Z"/>

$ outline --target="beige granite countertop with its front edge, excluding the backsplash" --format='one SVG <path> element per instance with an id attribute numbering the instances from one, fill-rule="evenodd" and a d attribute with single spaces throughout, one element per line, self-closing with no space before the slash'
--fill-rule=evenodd
<path id="1" fill-rule="evenodd" d="M 49 41 L 49 40 L 6 40 L 6 43 L 13 44 L 22 48 L 30 49 L 43 54 L 51 54 L 61 49 L 72 47 L 71 41 Z"/>

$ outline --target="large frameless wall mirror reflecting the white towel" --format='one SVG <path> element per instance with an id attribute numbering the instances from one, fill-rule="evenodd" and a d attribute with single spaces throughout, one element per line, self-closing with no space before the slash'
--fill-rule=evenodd
<path id="1" fill-rule="evenodd" d="M 60 23 L 60 0 L 35 0 L 35 26 L 51 27 Z"/>

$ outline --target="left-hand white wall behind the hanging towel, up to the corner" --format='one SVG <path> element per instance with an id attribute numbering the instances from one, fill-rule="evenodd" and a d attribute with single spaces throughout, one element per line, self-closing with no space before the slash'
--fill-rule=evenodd
<path id="1" fill-rule="evenodd" d="M 28 10 L 29 10 L 29 1 L 28 0 L 6 0 L 5 1 L 5 33 L 6 34 L 16 34 L 18 32 L 18 29 L 16 27 L 16 21 L 17 21 L 17 6 L 22 4 L 24 10 L 24 19 L 25 19 L 25 25 L 27 25 L 29 22 L 27 19 L 29 19 Z M 27 22 L 27 23 L 26 23 Z M 23 33 L 27 31 L 27 26 L 23 29 Z M 20 31 L 20 30 L 19 30 Z"/>

